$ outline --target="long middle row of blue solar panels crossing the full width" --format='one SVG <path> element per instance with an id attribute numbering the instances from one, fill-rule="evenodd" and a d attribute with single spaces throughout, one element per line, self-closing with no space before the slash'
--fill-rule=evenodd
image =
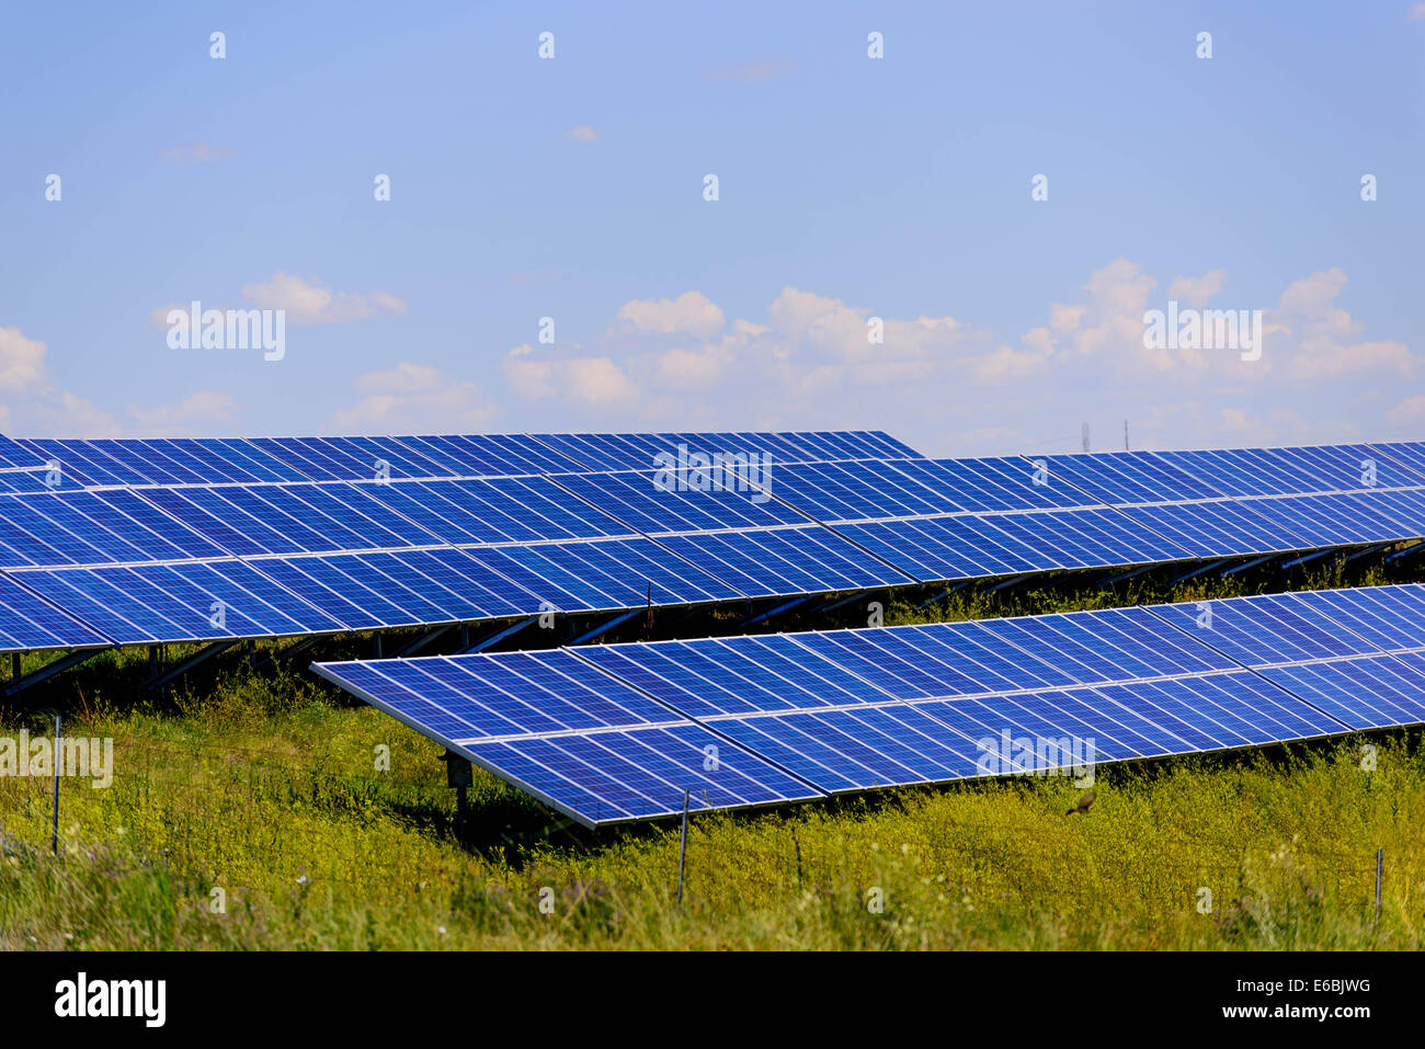
<path id="1" fill-rule="evenodd" d="M 0 647 L 318 634 L 1385 543 L 1425 536 L 1425 473 L 1405 465 L 1418 453 L 789 463 L 762 477 L 767 490 L 613 472 L 0 496 Z M 1374 485 L 1338 490 L 1351 463 Z M 1154 470 L 1167 479 L 1150 490 Z M 1292 480 L 1320 495 L 1274 493 Z"/>

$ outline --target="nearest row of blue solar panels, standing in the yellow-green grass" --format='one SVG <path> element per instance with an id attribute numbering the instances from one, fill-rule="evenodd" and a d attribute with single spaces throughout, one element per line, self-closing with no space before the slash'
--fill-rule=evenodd
<path id="1" fill-rule="evenodd" d="M 596 827 L 1425 721 L 1425 587 L 319 663 Z"/>

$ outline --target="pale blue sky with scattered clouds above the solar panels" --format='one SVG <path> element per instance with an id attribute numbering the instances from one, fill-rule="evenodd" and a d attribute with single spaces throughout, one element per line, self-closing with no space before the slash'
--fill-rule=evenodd
<path id="1" fill-rule="evenodd" d="M 1422 57 L 1411 0 L 10 4 L 0 428 L 1422 438 Z"/>

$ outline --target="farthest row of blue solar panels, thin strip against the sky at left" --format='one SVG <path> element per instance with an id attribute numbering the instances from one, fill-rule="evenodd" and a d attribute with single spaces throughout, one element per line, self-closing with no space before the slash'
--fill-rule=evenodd
<path id="1" fill-rule="evenodd" d="M 648 469 L 678 446 L 777 463 L 916 456 L 874 430 L 795 433 L 465 433 L 356 438 L 11 439 L 0 493 L 135 485 L 480 477 Z"/>

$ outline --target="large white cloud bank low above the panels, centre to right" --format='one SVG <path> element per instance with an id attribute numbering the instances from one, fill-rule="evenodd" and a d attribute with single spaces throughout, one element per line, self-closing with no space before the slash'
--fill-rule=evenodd
<path id="1" fill-rule="evenodd" d="M 879 426 L 926 450 L 965 455 L 1016 442 L 1019 450 L 1040 440 L 1054 442 L 1049 450 L 1076 448 L 1080 420 L 1094 412 L 1109 416 L 1096 423 L 1113 435 L 1107 446 L 1120 445 L 1126 416 L 1134 448 L 1361 439 L 1354 430 L 1369 430 L 1385 408 L 1365 399 L 1371 391 L 1418 375 L 1408 346 L 1364 338 L 1364 325 L 1337 306 L 1340 269 L 1290 282 L 1281 305 L 1264 308 L 1260 361 L 1144 346 L 1149 308 L 1170 296 L 1218 305 L 1226 282 L 1224 269 L 1208 269 L 1154 294 L 1159 279 L 1119 258 L 1009 338 L 946 314 L 892 316 L 795 286 L 755 319 L 727 316 L 704 292 L 687 291 L 624 304 L 594 348 L 516 346 L 504 378 L 516 398 L 581 409 L 589 428 Z M 868 338 L 874 316 L 882 343 Z M 1342 418 L 1341 398 L 1359 425 Z"/>

